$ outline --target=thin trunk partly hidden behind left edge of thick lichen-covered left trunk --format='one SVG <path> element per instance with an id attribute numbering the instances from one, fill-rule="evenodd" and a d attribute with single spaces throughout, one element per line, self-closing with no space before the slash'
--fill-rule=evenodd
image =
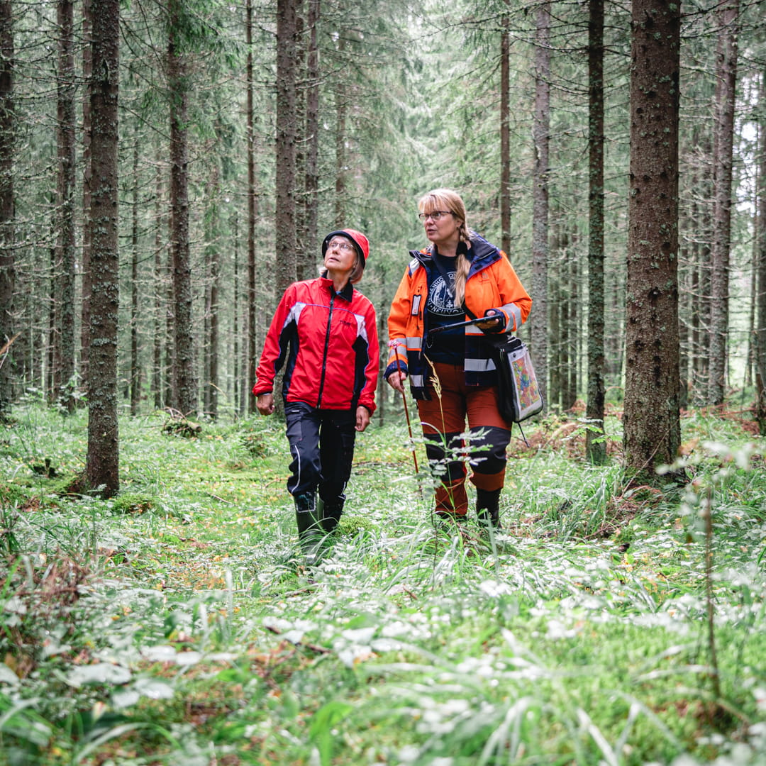
<path id="1" fill-rule="evenodd" d="M 90 46 L 91 0 L 83 0 L 83 248 L 80 296 L 80 385 L 87 390 L 90 346 L 90 78 L 93 74 L 93 51 Z"/>

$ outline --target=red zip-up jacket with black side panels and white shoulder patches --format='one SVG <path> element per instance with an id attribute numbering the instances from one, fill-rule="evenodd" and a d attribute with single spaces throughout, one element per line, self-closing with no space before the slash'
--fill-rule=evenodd
<path id="1" fill-rule="evenodd" d="M 352 284 L 336 293 L 332 280 L 318 277 L 285 290 L 258 362 L 256 396 L 273 391 L 285 358 L 285 401 L 303 401 L 323 410 L 356 409 L 362 404 L 370 413 L 375 411 L 375 309 Z"/>

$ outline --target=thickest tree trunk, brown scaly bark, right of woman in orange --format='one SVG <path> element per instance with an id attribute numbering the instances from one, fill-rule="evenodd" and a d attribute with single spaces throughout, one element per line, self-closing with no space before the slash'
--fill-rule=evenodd
<path id="1" fill-rule="evenodd" d="M 681 441 L 678 342 L 680 5 L 633 0 L 624 450 L 651 481 Z"/>

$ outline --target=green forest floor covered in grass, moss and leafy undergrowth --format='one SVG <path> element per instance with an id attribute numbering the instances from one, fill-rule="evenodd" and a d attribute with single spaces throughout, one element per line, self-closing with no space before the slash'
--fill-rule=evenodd
<path id="1" fill-rule="evenodd" d="M 66 492 L 86 417 L 30 402 L 0 433 L 0 763 L 766 764 L 746 412 L 684 414 L 659 489 L 617 412 L 605 466 L 576 414 L 529 425 L 497 535 L 434 524 L 422 444 L 373 424 L 310 569 L 276 417 L 125 417 L 110 500 Z"/>

